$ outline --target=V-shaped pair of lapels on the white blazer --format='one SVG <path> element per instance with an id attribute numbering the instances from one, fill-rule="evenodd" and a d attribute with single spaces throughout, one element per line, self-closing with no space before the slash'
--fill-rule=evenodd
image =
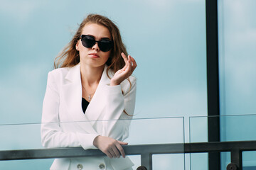
<path id="1" fill-rule="evenodd" d="M 110 84 L 110 78 L 107 77 L 107 66 L 102 73 L 100 83 L 97 86 L 95 94 L 90 101 L 85 113 L 82 112 L 82 84 L 80 74 L 80 64 L 71 67 L 65 77 L 65 84 L 62 88 L 62 97 L 68 111 L 68 120 L 77 122 L 85 131 L 92 132 L 93 125 L 102 118 L 105 108 L 106 96 L 105 88 Z M 81 122 L 81 123 L 79 123 Z M 85 127 L 82 122 L 90 122 L 91 128 Z M 94 129 L 93 129 L 94 130 Z"/>

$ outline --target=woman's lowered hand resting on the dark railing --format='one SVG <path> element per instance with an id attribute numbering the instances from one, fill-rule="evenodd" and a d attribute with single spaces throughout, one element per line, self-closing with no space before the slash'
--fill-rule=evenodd
<path id="1" fill-rule="evenodd" d="M 107 157 L 119 158 L 120 153 L 122 154 L 122 157 L 125 157 L 124 149 L 121 145 L 128 145 L 128 143 L 114 140 L 111 137 L 97 136 L 93 141 L 93 145 L 99 148 L 103 153 L 107 154 Z"/>

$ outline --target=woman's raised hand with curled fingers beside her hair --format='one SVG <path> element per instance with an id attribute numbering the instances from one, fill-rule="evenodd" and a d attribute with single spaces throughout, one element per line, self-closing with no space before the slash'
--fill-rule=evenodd
<path id="1" fill-rule="evenodd" d="M 134 58 L 128 55 L 124 55 L 124 52 L 122 52 L 122 57 L 124 59 L 125 65 L 122 69 L 119 69 L 114 76 L 112 77 L 110 81 L 110 86 L 117 86 L 124 81 L 124 79 L 127 79 L 130 75 L 132 75 L 132 72 L 137 67 L 137 63 L 135 62 Z"/>

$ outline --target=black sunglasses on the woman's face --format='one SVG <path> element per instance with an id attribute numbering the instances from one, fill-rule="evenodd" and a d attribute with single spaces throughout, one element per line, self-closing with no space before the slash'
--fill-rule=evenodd
<path id="1" fill-rule="evenodd" d="M 112 40 L 103 38 L 102 40 L 97 41 L 91 35 L 81 35 L 81 41 L 82 41 L 82 45 L 87 48 L 92 47 L 97 42 L 98 46 L 102 52 L 107 52 L 107 51 L 111 50 L 112 47 L 114 46 L 114 43 L 112 42 Z"/>

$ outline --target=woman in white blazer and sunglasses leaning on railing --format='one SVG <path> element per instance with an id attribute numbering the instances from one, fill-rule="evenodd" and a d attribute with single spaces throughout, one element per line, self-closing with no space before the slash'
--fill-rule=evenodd
<path id="1" fill-rule="evenodd" d="M 90 14 L 82 21 L 48 73 L 42 145 L 98 148 L 107 157 L 55 159 L 50 169 L 132 169 L 122 141 L 134 113 L 136 67 L 109 18 Z"/>

